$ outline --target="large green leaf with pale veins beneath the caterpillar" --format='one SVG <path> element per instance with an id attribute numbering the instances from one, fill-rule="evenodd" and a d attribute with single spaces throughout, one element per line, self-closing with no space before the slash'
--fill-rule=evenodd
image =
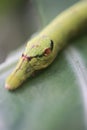
<path id="1" fill-rule="evenodd" d="M 42 26 L 76 0 L 33 0 Z M 4 88 L 20 53 L 0 68 L 1 130 L 85 130 L 87 108 L 87 35 L 74 39 L 47 69 L 19 89 Z M 17 51 L 19 52 L 19 50 Z"/>

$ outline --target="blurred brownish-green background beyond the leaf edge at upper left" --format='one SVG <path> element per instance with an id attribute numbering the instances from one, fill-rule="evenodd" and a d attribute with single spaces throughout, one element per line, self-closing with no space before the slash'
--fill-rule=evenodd
<path id="1" fill-rule="evenodd" d="M 32 0 L 0 0 L 0 63 L 40 27 Z"/>

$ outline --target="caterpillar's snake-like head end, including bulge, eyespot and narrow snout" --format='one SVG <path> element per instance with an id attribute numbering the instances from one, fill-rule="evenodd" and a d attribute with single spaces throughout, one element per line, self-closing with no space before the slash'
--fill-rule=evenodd
<path id="1" fill-rule="evenodd" d="M 53 40 L 39 36 L 30 40 L 15 70 L 7 78 L 6 88 L 19 87 L 36 70 L 46 68 L 53 61 Z"/>

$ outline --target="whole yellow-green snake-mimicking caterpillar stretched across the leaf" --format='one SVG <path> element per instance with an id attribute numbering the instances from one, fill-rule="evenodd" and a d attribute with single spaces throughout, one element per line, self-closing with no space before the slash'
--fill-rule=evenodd
<path id="1" fill-rule="evenodd" d="M 23 54 L 34 58 L 30 61 L 25 57 L 20 58 L 15 70 L 6 80 L 6 88 L 12 90 L 19 87 L 36 70 L 50 65 L 57 53 L 68 43 L 68 40 L 86 27 L 86 21 L 87 1 L 79 2 L 60 14 L 38 36 L 27 43 Z M 53 49 L 45 55 L 44 52 L 50 48 L 51 40 L 53 41 Z M 42 56 L 35 57 L 37 55 Z"/>

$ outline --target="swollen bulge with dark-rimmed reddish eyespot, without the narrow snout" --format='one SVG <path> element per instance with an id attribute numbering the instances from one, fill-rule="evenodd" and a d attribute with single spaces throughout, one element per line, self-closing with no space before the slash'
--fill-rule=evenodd
<path id="1" fill-rule="evenodd" d="M 22 57 L 26 57 L 35 70 L 47 67 L 52 62 L 53 41 L 46 36 L 30 41 Z"/>

